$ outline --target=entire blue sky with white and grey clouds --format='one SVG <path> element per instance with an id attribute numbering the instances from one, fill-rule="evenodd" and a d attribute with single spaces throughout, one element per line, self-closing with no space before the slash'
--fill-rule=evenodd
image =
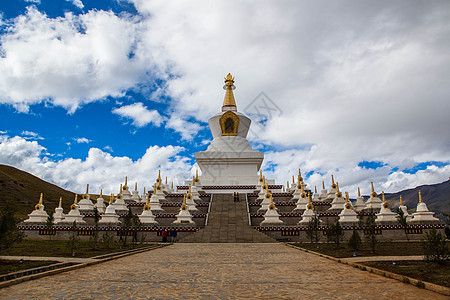
<path id="1" fill-rule="evenodd" d="M 228 72 L 277 183 L 450 176 L 448 1 L 3 1 L 0 163 L 75 192 L 181 183 Z"/>

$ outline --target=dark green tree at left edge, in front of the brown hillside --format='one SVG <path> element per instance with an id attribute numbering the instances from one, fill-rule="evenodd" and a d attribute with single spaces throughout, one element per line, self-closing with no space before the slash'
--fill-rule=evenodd
<path id="1" fill-rule="evenodd" d="M 17 229 L 19 220 L 15 217 L 16 212 L 16 205 L 10 201 L 0 208 L 0 250 L 8 249 L 22 240 L 23 233 Z"/>

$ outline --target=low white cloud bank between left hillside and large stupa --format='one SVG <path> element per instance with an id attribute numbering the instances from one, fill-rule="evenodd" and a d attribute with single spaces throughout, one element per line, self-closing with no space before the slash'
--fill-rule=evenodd
<path id="1" fill-rule="evenodd" d="M 150 146 L 136 161 L 129 157 L 112 156 L 97 148 L 91 148 L 85 159 L 67 158 L 49 160 L 45 148 L 36 141 L 21 137 L 0 136 L 0 163 L 15 166 L 44 180 L 55 183 L 74 192 L 82 192 L 86 184 L 92 192 L 118 193 L 125 176 L 131 185 L 138 182 L 140 191 L 150 188 L 161 169 L 175 184 L 182 184 L 189 178 L 192 165 L 179 155 L 184 148 L 179 146 Z"/>

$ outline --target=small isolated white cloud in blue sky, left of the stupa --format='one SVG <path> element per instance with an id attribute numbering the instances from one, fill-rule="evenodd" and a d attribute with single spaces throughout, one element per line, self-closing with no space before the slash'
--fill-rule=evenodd
<path id="1" fill-rule="evenodd" d="M 163 117 L 156 110 L 148 110 L 142 102 L 115 108 L 113 113 L 132 119 L 133 125 L 137 127 L 144 127 L 149 123 L 159 127 L 163 122 Z"/>

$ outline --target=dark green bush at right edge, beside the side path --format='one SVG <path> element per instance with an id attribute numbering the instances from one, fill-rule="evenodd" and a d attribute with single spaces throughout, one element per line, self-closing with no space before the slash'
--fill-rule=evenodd
<path id="1" fill-rule="evenodd" d="M 427 262 L 437 262 L 445 264 L 450 258 L 450 252 L 445 242 L 445 237 L 435 228 L 425 233 L 425 239 L 422 241 L 424 259 Z"/>

